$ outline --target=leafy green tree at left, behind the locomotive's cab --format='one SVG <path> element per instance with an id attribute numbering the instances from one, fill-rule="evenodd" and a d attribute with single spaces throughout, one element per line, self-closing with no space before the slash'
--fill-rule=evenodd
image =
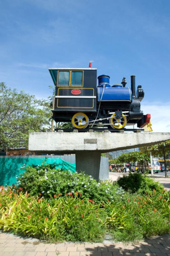
<path id="1" fill-rule="evenodd" d="M 29 132 L 50 131 L 50 104 L 0 83 L 0 149 L 27 147 Z"/>

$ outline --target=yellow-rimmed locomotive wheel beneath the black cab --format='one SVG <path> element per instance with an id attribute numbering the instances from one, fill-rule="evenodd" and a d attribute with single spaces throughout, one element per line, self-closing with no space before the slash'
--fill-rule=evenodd
<path id="1" fill-rule="evenodd" d="M 78 129 L 84 129 L 88 126 L 89 124 L 89 118 L 86 114 L 84 113 L 76 113 L 73 117 L 72 117 L 72 124 L 75 128 Z"/>

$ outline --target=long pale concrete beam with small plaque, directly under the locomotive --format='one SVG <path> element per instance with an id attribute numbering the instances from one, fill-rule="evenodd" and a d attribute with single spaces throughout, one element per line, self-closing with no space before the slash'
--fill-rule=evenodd
<path id="1" fill-rule="evenodd" d="M 170 132 L 31 132 L 29 150 L 40 153 L 111 152 L 170 140 Z"/>

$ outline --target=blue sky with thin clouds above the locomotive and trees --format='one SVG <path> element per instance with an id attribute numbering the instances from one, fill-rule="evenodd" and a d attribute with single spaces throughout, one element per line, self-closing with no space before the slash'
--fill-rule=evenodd
<path id="1" fill-rule="evenodd" d="M 128 86 L 136 75 L 141 109 L 151 112 L 155 131 L 162 118 L 161 131 L 170 131 L 169 0 L 0 0 L 0 10 L 0 82 L 46 98 L 49 67 L 95 60 L 111 84 L 125 76 Z"/>

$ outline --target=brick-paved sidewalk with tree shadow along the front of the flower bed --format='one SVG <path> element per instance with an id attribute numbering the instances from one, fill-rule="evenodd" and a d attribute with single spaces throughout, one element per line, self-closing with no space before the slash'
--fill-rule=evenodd
<path id="1" fill-rule="evenodd" d="M 170 235 L 156 236 L 138 244 L 45 244 L 0 232 L 0 256 L 170 256 Z"/>

